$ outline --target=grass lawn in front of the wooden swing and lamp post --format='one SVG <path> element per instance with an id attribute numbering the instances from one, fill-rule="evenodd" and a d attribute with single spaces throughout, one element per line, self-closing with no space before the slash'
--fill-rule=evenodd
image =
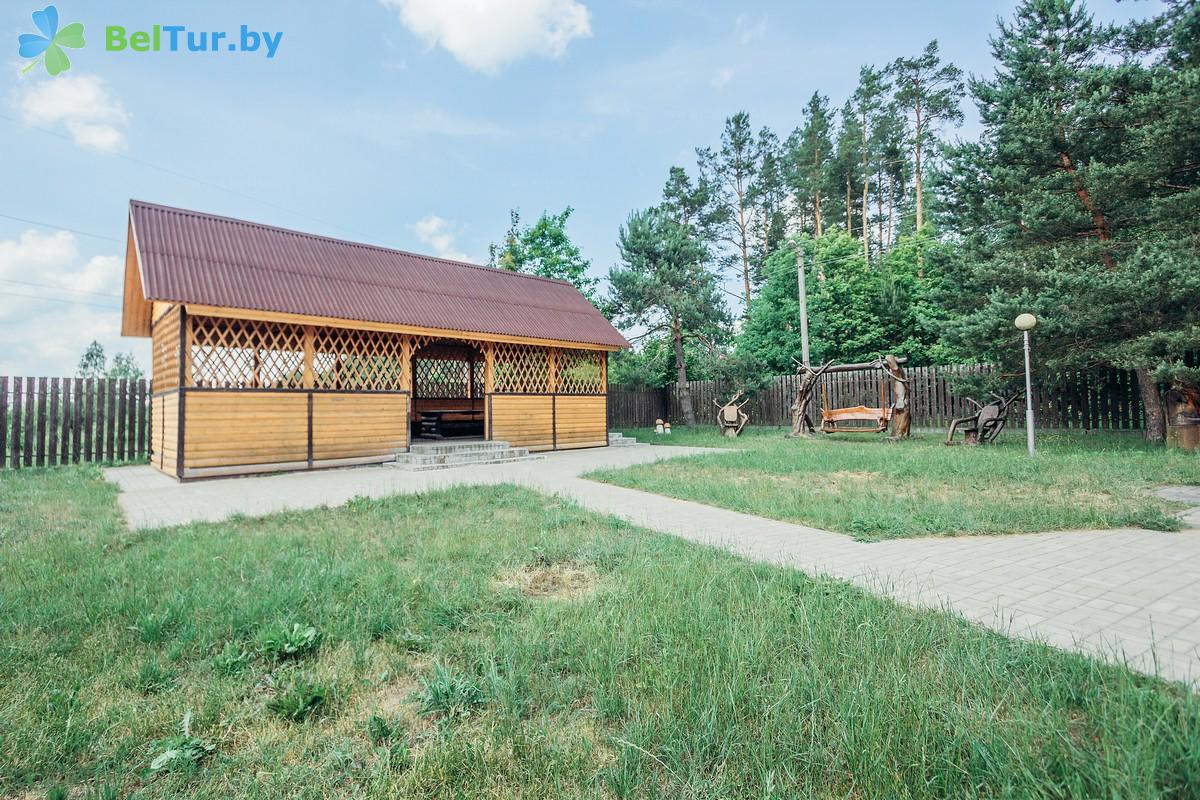
<path id="1" fill-rule="evenodd" d="M 784 428 L 714 426 L 640 441 L 731 447 L 587 477 L 850 534 L 901 536 L 1010 534 L 1140 527 L 1176 530 L 1177 506 L 1150 497 L 1163 483 L 1200 483 L 1200 456 L 1121 434 L 1049 433 L 1038 456 L 1024 434 L 983 447 L 947 447 L 934 433 L 908 441 L 836 434 L 791 439 Z"/>

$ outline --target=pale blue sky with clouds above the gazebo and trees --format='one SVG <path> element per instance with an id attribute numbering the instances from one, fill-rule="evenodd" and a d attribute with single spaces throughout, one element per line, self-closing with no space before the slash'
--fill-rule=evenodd
<path id="1" fill-rule="evenodd" d="M 840 106 L 859 65 L 930 38 L 988 72 L 988 36 L 1015 6 L 62 0 L 86 47 L 70 72 L 22 77 L 17 36 L 43 5 L 0 12 L 0 374 L 73 374 L 92 338 L 148 366 L 148 343 L 119 336 L 130 198 L 476 261 L 509 209 L 532 221 L 571 205 L 570 233 L 604 275 L 629 211 L 727 115 L 786 136 L 814 90 Z M 1123 19 L 1157 4 L 1091 7 Z M 107 25 L 155 23 L 283 38 L 270 60 L 103 49 Z"/>

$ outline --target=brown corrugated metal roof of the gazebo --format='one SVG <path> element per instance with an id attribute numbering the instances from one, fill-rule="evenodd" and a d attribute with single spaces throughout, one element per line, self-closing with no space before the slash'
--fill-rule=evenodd
<path id="1" fill-rule="evenodd" d="M 130 201 L 146 300 L 629 347 L 565 281 Z"/>

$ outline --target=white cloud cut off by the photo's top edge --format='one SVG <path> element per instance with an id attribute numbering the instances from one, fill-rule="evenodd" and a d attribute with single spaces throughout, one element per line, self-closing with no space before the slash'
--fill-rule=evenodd
<path id="1" fill-rule="evenodd" d="M 574 38 L 592 35 L 577 0 L 380 0 L 430 47 L 445 48 L 487 74 L 524 58 L 559 58 Z"/>

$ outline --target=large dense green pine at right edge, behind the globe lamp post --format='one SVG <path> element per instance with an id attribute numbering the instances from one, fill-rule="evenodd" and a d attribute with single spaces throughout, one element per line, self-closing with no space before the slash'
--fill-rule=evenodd
<path id="1" fill-rule="evenodd" d="M 1031 311 L 1043 375 L 1134 369 L 1147 437 L 1160 440 L 1158 383 L 1172 365 L 1186 377 L 1200 344 L 1196 234 L 1177 215 L 1196 210 L 1200 149 L 1194 110 L 1176 110 L 1196 108 L 1198 76 L 1169 62 L 1187 60 L 1190 40 L 1146 64 L 1134 56 L 1147 38 L 1097 25 L 1072 0 L 1025 0 L 1001 24 L 995 76 L 971 82 L 983 138 L 950 151 L 947 218 L 962 251 L 948 301 L 965 312 L 954 339 L 980 357 L 1015 366 L 1012 319 Z"/>

